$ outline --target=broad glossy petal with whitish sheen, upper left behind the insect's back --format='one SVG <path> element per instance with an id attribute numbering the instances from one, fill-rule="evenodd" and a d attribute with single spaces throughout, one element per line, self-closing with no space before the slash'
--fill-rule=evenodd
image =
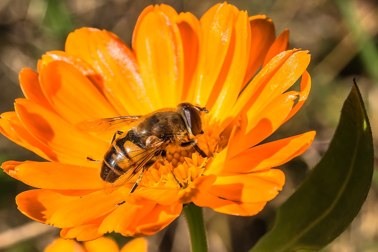
<path id="1" fill-rule="evenodd" d="M 68 35 L 66 51 L 97 71 L 104 82 L 102 91 L 121 115 L 143 115 L 153 110 L 135 56 L 117 36 L 81 28 Z"/>

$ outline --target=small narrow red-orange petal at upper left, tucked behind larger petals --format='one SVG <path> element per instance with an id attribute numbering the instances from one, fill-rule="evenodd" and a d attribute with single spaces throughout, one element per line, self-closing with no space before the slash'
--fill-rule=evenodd
<path id="1" fill-rule="evenodd" d="M 22 68 L 19 74 L 19 81 L 26 99 L 34 101 L 48 109 L 52 109 L 39 85 L 38 73 L 29 68 Z"/>

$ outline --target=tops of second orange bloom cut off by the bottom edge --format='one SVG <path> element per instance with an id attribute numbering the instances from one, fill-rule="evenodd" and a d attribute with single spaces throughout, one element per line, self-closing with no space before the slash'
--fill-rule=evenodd
<path id="1" fill-rule="evenodd" d="M 48 245 L 45 252 L 147 252 L 147 240 L 136 238 L 129 241 L 121 250 L 118 244 L 110 238 L 100 237 L 93 241 L 86 241 L 82 245 L 74 240 L 58 238 Z"/>

